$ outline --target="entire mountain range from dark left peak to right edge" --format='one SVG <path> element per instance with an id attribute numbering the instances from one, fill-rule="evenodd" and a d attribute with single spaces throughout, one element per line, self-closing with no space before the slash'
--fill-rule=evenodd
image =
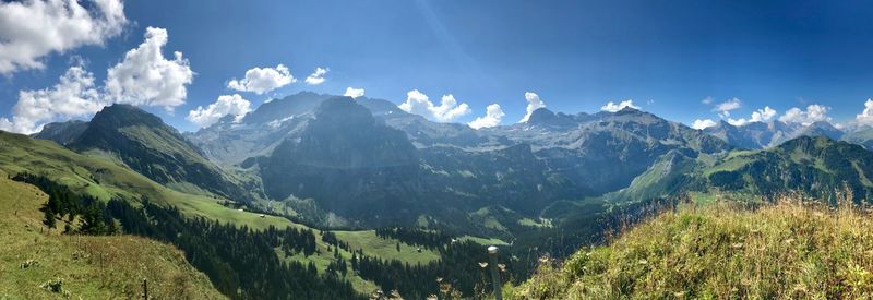
<path id="1" fill-rule="evenodd" d="M 321 226 L 418 224 L 511 237 L 519 219 L 567 216 L 586 202 L 714 189 L 776 193 L 812 183 L 804 190 L 814 192 L 844 181 L 864 194 L 869 181 L 856 179 L 866 175 L 868 131 L 779 121 L 695 130 L 633 108 L 540 108 L 526 122 L 474 130 L 383 99 L 302 92 L 198 132 L 113 105 L 89 122 L 52 123 L 34 137 L 179 191 L 283 202 Z M 818 148 L 799 151 L 803 143 Z M 847 156 L 823 157 L 834 152 Z M 780 173 L 786 166 L 796 173 Z M 737 175 L 761 172 L 767 176 Z"/>

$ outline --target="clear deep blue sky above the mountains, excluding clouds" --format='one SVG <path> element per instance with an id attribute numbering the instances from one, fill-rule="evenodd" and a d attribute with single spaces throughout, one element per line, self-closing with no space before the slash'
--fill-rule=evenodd
<path id="1" fill-rule="evenodd" d="M 111 1 L 111 0 L 103 0 Z M 27 2 L 27 1 L 25 1 Z M 83 7 L 96 5 L 83 2 Z M 71 65 L 105 88 L 107 69 L 166 29 L 163 55 L 180 51 L 193 77 L 183 104 L 143 103 L 183 131 L 186 117 L 222 95 L 256 107 L 299 91 L 343 94 L 349 86 L 398 105 L 418 89 L 439 103 L 452 94 L 469 122 L 499 104 L 502 123 L 525 115 L 526 92 L 552 110 L 600 110 L 633 104 L 691 124 L 718 121 L 715 105 L 774 119 L 817 104 L 848 123 L 873 97 L 873 5 L 863 1 L 127 1 L 127 22 L 100 43 L 37 57 L 41 68 L 0 75 L 0 116 L 12 118 L 20 91 L 51 88 Z M 3 8 L 0 8 L 2 12 Z M 0 22 L 2 22 L 0 13 Z M 2 24 L 2 23 L 0 23 Z M 13 28 L 0 26 L 0 40 Z M 3 43 L 3 41 L 0 41 Z M 4 49 L 0 47 L 0 59 Z M 73 58 L 73 59 L 71 59 Z M 264 94 L 228 88 L 252 68 L 284 64 L 297 82 Z M 319 85 L 303 81 L 330 71 Z M 702 100 L 710 97 L 711 104 Z M 723 112 L 722 112 L 723 115 Z M 67 118 L 58 115 L 58 119 Z M 79 116 L 73 118 L 86 118 Z"/>

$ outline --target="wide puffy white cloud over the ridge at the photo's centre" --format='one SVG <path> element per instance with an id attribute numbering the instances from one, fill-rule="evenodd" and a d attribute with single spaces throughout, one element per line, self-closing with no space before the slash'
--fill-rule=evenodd
<path id="1" fill-rule="evenodd" d="M 441 122 L 450 122 L 461 116 L 470 113 L 470 107 L 467 104 L 458 105 L 452 94 L 443 95 L 438 106 L 428 99 L 428 95 L 418 92 L 418 89 L 406 93 L 406 101 L 397 107 L 406 112 L 424 116 Z"/>

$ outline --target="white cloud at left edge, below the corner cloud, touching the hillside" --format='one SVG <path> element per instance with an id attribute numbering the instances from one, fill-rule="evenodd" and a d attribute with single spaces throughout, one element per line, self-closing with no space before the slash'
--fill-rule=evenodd
<path id="1" fill-rule="evenodd" d="M 48 122 L 87 117 L 106 105 L 94 85 L 94 74 L 74 65 L 51 88 L 19 92 L 12 120 L 0 119 L 0 130 L 31 134 Z"/>

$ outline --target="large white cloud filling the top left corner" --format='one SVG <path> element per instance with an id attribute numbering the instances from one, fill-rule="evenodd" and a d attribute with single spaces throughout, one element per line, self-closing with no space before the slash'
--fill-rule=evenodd
<path id="1" fill-rule="evenodd" d="M 0 74 L 41 69 L 41 59 L 52 52 L 103 45 L 128 23 L 120 0 L 94 0 L 88 5 L 79 2 L 0 2 Z"/>

